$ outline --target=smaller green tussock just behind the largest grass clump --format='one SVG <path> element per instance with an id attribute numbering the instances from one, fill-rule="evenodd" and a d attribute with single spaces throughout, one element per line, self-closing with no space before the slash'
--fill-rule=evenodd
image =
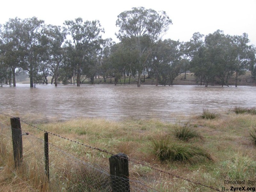
<path id="1" fill-rule="evenodd" d="M 175 137 L 180 140 L 188 140 L 194 137 L 199 137 L 199 134 L 189 127 L 188 122 L 177 125 L 174 129 Z"/>

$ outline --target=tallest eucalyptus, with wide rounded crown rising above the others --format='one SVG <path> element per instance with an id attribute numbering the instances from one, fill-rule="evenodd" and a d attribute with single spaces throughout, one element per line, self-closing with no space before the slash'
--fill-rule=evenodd
<path id="1" fill-rule="evenodd" d="M 151 54 L 152 44 L 168 30 L 172 20 L 166 12 L 156 12 L 144 7 L 133 7 L 130 11 L 120 13 L 117 18 L 116 26 L 120 28 L 117 37 L 121 41 L 129 40 L 131 48 L 137 51 L 137 86 L 140 87 L 142 70 Z"/>

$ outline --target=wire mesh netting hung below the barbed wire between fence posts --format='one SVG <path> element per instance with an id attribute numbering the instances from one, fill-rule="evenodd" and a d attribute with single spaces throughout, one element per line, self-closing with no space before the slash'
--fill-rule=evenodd
<path id="1" fill-rule="evenodd" d="M 23 123 L 21 121 L 21 123 Z M 49 134 L 49 167 L 46 168 L 43 130 L 22 124 L 22 129 L 0 123 L 1 146 L 18 148 L 13 157 L 16 171 L 24 174 L 24 182 L 39 191 L 157 191 L 147 190 L 140 181 L 110 174 L 109 157 L 104 150 L 95 150 L 56 134 Z M 21 139 L 18 141 L 17 140 Z M 8 142 L 6 142 L 8 141 Z M 17 144 L 16 147 L 13 143 Z M 2 147 L 1 147 L 2 148 Z M 16 154 L 16 155 L 17 155 Z M 112 154 L 113 155 L 113 154 Z M 16 163 L 15 163 L 16 162 Z M 47 169 L 48 174 L 47 175 Z M 22 170 L 22 171 L 21 171 Z M 127 186 L 127 183 L 129 186 Z M 131 183 L 131 184 L 130 184 Z"/>

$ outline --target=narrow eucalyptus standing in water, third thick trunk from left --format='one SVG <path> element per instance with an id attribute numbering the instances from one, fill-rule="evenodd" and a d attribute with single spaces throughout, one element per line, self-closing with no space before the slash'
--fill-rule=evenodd
<path id="1" fill-rule="evenodd" d="M 64 65 L 65 47 L 63 47 L 66 39 L 66 30 L 60 26 L 48 25 L 45 29 L 45 35 L 48 40 L 47 64 L 54 79 L 55 87 L 58 85 L 60 76 L 60 68 Z M 51 83 L 52 83 L 51 82 Z"/>

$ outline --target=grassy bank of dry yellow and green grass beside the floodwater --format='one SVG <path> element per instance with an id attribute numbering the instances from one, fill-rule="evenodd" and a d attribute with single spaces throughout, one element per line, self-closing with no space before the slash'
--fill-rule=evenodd
<path id="1" fill-rule="evenodd" d="M 0 121 L 9 124 L 9 119 L 4 116 L 0 116 Z M 22 126 L 27 132 L 43 138 L 39 130 L 26 124 Z M 229 111 L 218 114 L 214 119 L 192 116 L 187 123 L 180 124 L 135 119 L 120 122 L 74 119 L 36 126 L 65 138 L 106 149 L 113 154 L 125 153 L 133 161 L 148 165 L 149 167 L 130 162 L 130 177 L 159 191 L 215 190 L 157 172 L 150 167 L 220 190 L 223 187 L 230 189 L 230 186 L 255 187 L 256 185 L 248 184 L 249 180 L 256 181 L 256 147 L 250 135 L 256 126 L 256 116 L 252 114 L 236 114 Z M 72 191 L 70 186 L 74 186 L 74 179 L 68 177 L 68 174 L 65 177 L 62 175 L 60 179 L 61 171 L 57 176 L 52 172 L 50 184 L 44 185 L 44 174 L 35 172 L 36 169 L 41 169 L 40 166 L 33 167 L 26 162 L 26 167 L 22 170 L 13 170 L 11 145 L 6 144 L 6 139 L 3 137 L 0 142 L 0 191 L 27 191 L 28 189 L 30 191 Z M 84 148 L 58 137 L 50 138 L 50 142 L 91 162 L 108 164 L 110 155 L 104 152 Z M 187 152 L 190 153 L 187 155 Z M 186 157 L 183 158 L 183 156 Z M 59 164 L 66 162 L 71 166 L 68 164 L 67 156 L 60 156 L 57 152 L 50 161 L 54 162 L 55 166 L 58 162 Z M 65 172 L 68 170 L 70 171 L 71 168 L 66 169 Z M 73 167 L 72 170 L 76 169 Z M 225 184 L 225 180 L 245 180 L 245 184 L 230 185 Z"/>

